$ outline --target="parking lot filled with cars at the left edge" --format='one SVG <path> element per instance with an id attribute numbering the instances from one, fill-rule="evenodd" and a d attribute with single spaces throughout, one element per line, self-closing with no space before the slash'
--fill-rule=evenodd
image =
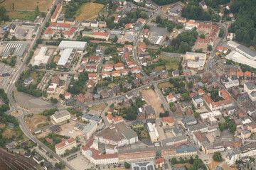
<path id="1" fill-rule="evenodd" d="M 15 69 L 7 64 L 0 63 L 0 74 L 9 73 L 11 76 L 14 75 Z M 0 78 L 0 89 L 6 89 L 9 82 L 11 81 L 11 76 Z"/>

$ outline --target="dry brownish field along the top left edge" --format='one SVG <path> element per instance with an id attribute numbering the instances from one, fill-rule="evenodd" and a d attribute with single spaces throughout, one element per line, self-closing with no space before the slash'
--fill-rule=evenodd
<path id="1" fill-rule="evenodd" d="M 48 11 L 53 4 L 53 0 L 6 0 L 1 3 L 8 10 L 12 10 L 14 3 L 14 10 L 35 10 L 38 6 L 40 11 Z"/>

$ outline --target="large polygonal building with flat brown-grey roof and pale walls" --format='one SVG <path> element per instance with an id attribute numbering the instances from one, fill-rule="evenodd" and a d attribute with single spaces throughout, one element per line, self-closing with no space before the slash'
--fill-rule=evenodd
<path id="1" fill-rule="evenodd" d="M 94 138 L 102 144 L 111 144 L 117 147 L 138 142 L 137 134 L 133 130 L 127 128 L 124 121 L 110 125 L 108 128 L 105 128 L 105 130 L 102 130 L 95 135 Z"/>

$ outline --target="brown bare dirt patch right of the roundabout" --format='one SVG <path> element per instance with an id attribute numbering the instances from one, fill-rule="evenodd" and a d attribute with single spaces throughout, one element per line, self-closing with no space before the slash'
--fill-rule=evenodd
<path id="1" fill-rule="evenodd" d="M 24 119 L 26 124 L 28 125 L 29 130 L 31 130 L 31 132 L 36 130 L 37 125 L 39 124 L 50 123 L 50 121 L 48 121 L 47 117 L 44 115 L 33 115 L 32 118 L 26 116 Z"/>

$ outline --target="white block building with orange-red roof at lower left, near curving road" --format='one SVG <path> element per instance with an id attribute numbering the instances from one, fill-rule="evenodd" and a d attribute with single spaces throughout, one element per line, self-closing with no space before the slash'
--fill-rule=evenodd
<path id="1" fill-rule="evenodd" d="M 68 140 L 64 140 L 55 145 L 56 154 L 62 155 L 65 154 L 65 150 L 72 149 L 73 147 L 77 147 L 76 141 L 73 137 L 69 138 Z"/>

